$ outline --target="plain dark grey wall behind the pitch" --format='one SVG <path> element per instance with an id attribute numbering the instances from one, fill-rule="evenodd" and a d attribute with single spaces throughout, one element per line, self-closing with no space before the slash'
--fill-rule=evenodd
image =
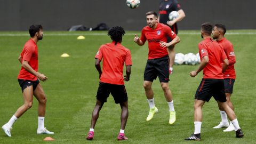
<path id="1" fill-rule="evenodd" d="M 180 30 L 199 29 L 201 23 L 224 23 L 227 29 L 256 29 L 256 1 L 253 0 L 179 0 L 186 18 Z M 41 23 L 45 30 L 67 30 L 73 25 L 96 27 L 123 26 L 141 30 L 145 13 L 158 12 L 158 0 L 141 0 L 130 9 L 125 0 L 0 0 L 0 31 L 28 30 L 31 23 Z"/>

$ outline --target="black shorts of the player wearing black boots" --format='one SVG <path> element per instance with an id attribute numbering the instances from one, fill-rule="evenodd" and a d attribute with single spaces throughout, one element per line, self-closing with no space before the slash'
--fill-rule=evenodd
<path id="1" fill-rule="evenodd" d="M 223 79 L 203 78 L 196 91 L 195 99 L 209 102 L 211 97 L 226 102 Z"/>

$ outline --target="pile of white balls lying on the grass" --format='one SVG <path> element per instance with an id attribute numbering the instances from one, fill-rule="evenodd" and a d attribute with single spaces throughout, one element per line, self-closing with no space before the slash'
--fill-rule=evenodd
<path id="1" fill-rule="evenodd" d="M 175 65 L 197 65 L 197 63 L 200 63 L 200 56 L 199 53 L 196 55 L 194 53 L 177 53 L 175 54 L 174 64 Z"/>

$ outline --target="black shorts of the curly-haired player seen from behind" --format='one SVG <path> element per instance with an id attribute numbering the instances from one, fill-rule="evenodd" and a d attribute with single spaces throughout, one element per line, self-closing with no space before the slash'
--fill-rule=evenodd
<path id="1" fill-rule="evenodd" d="M 110 93 L 113 96 L 115 103 L 123 103 L 128 100 L 124 85 L 100 82 L 96 98 L 103 103 L 107 102 Z"/>

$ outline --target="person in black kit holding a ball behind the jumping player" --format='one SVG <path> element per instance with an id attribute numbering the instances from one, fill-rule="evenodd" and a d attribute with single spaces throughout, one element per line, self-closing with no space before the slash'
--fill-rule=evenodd
<path id="1" fill-rule="evenodd" d="M 172 11 L 177 11 L 179 13 L 179 17 L 174 20 L 169 20 L 169 14 Z M 161 0 L 159 3 L 159 19 L 158 21 L 160 23 L 164 23 L 165 25 L 169 26 L 174 33 L 178 34 L 178 26 L 177 22 L 181 21 L 183 18 L 185 18 L 185 12 L 181 9 L 181 6 L 177 0 Z M 172 39 L 168 36 L 167 42 L 171 42 Z M 173 63 L 175 58 L 175 51 L 174 51 L 174 45 L 170 45 L 168 48 L 169 58 L 170 58 L 170 74 L 173 73 Z"/>

